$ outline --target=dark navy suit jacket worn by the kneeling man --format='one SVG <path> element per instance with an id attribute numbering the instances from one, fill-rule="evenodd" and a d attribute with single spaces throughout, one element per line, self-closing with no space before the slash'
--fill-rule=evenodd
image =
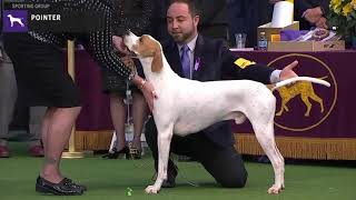
<path id="1" fill-rule="evenodd" d="M 194 70 L 192 79 L 199 81 L 250 79 L 269 83 L 274 69 L 259 64 L 245 69 L 237 67 L 234 62 L 238 57 L 231 53 L 225 43 L 222 40 L 198 36 L 194 60 L 199 60 L 200 64 L 197 70 Z M 162 44 L 162 48 L 171 69 L 184 77 L 177 44 L 169 40 Z M 218 122 L 201 132 L 220 147 L 230 147 L 234 142 L 228 121 Z"/>

